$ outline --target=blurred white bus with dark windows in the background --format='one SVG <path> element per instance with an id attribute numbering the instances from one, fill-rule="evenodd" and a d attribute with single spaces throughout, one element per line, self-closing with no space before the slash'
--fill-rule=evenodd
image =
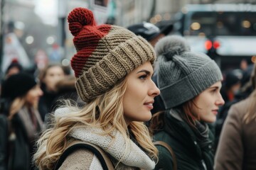
<path id="1" fill-rule="evenodd" d="M 256 61 L 256 6 L 252 4 L 191 4 L 176 14 L 174 31 L 191 50 L 210 55 L 221 69 Z"/>

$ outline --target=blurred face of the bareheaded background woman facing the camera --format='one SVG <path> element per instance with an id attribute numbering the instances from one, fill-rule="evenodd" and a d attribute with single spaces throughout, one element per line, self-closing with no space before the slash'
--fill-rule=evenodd
<path id="1" fill-rule="evenodd" d="M 46 71 L 46 77 L 44 77 L 43 82 L 46 84 L 48 91 L 55 91 L 55 84 L 60 79 L 64 79 L 63 69 L 59 66 L 53 66 Z"/>

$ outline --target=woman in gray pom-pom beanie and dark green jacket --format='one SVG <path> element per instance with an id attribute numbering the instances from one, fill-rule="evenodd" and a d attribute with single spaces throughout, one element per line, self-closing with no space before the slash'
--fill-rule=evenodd
<path id="1" fill-rule="evenodd" d="M 213 123 L 224 104 L 220 95 L 223 76 L 218 65 L 203 53 L 191 52 L 180 36 L 156 43 L 158 87 L 165 111 L 155 113 L 150 128 L 154 140 L 173 150 L 178 169 L 213 169 Z M 174 157 L 161 145 L 155 169 L 173 169 Z"/>

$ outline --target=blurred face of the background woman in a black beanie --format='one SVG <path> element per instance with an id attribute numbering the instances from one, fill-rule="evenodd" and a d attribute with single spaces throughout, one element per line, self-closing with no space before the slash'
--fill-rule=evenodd
<path id="1" fill-rule="evenodd" d="M 39 85 L 34 86 L 32 89 L 28 91 L 25 96 L 26 103 L 29 106 L 35 106 L 38 104 L 40 96 L 43 95 L 43 91 L 41 90 Z"/>

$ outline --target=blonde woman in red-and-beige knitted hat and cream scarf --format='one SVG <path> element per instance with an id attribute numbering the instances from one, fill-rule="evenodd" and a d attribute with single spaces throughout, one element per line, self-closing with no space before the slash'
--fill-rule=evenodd
<path id="1" fill-rule="evenodd" d="M 71 59 L 76 89 L 84 108 L 63 106 L 53 127 L 38 141 L 34 159 L 39 169 L 54 169 L 73 141 L 102 148 L 115 169 L 154 169 L 157 150 L 144 121 L 150 120 L 159 95 L 152 64 L 154 50 L 125 28 L 96 26 L 92 12 L 75 8 L 68 16 L 77 54 Z M 102 169 L 88 149 L 68 155 L 59 169 Z"/>

